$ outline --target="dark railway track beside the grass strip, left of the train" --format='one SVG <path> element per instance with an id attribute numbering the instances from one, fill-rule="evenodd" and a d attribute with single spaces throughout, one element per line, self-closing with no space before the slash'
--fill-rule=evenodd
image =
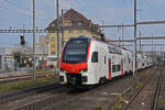
<path id="1" fill-rule="evenodd" d="M 63 90 L 64 87 L 62 87 L 58 82 L 54 82 L 2 95 L 0 96 L 0 110 L 15 110 L 14 108 L 19 107 L 19 100 L 23 100 L 22 103 L 20 102 L 19 105 L 24 106 L 25 103 L 33 102 L 34 100 L 41 100 L 40 98 L 37 99 L 36 96 L 48 96 L 51 92 L 63 92 Z M 29 97 L 34 98 L 32 100 L 26 100 Z"/>

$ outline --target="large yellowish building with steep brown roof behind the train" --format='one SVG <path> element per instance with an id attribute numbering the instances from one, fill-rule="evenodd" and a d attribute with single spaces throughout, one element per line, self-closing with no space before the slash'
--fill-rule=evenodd
<path id="1" fill-rule="evenodd" d="M 62 25 L 62 16 L 58 18 L 59 23 Z M 46 28 L 48 31 L 54 31 L 57 26 L 57 19 L 54 20 Z M 70 37 L 74 36 L 96 36 L 100 37 L 101 30 L 98 24 L 94 24 L 91 20 L 88 20 L 81 13 L 75 11 L 74 9 L 69 9 L 66 13 L 64 13 L 64 26 L 68 26 L 64 31 L 64 42 L 66 43 Z M 69 26 L 74 26 L 74 29 L 69 29 Z M 77 26 L 77 28 L 76 28 Z M 79 28 L 78 28 L 79 26 Z M 80 26 L 91 26 L 92 29 L 81 28 Z M 48 55 L 55 55 L 57 53 L 57 40 L 56 32 L 48 33 Z M 61 50 L 62 50 L 62 31 L 59 31 L 59 41 L 61 41 Z"/>

